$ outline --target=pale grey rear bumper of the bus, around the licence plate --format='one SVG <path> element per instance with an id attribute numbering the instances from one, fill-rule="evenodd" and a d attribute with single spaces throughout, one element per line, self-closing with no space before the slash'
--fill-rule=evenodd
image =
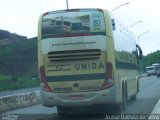
<path id="1" fill-rule="evenodd" d="M 83 96 L 82 99 L 71 99 L 71 96 Z M 51 93 L 41 90 L 42 104 L 53 106 L 92 106 L 97 104 L 115 104 L 116 87 L 91 92 Z"/>

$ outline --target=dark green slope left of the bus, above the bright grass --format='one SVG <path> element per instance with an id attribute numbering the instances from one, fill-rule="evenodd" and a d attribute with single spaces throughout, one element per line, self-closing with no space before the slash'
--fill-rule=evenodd
<path id="1" fill-rule="evenodd" d="M 37 76 L 37 39 L 14 41 L 0 46 L 0 74 Z"/>

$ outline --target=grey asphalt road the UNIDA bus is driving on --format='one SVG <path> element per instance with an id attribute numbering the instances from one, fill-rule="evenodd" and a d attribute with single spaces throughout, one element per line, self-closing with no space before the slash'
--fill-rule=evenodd
<path id="1" fill-rule="evenodd" d="M 127 108 L 122 114 L 132 115 L 132 118 L 126 118 L 124 116 L 115 116 L 114 119 L 118 120 L 120 117 L 123 120 L 137 120 L 141 117 L 142 120 L 146 120 L 150 115 L 154 106 L 160 99 L 160 78 L 155 76 L 145 77 L 140 80 L 140 92 L 137 95 L 136 101 L 128 101 Z M 136 114 L 133 116 L 133 114 Z M 138 114 L 138 116 L 137 116 Z M 141 116 L 140 116 L 141 115 Z M 7 114 L 2 114 L 3 117 L 9 116 L 10 118 L 18 118 L 18 120 L 111 120 L 110 115 L 98 116 L 98 115 L 79 115 L 79 116 L 67 116 L 60 117 L 57 114 L 55 107 L 47 108 L 42 105 L 36 105 L 28 108 L 17 109 L 8 111 Z M 6 120 L 6 119 L 2 119 Z M 15 119 L 16 120 L 16 119 Z"/>

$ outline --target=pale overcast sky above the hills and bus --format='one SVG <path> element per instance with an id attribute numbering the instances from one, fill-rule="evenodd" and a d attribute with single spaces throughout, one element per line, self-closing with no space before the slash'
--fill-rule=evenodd
<path id="1" fill-rule="evenodd" d="M 68 0 L 68 4 L 69 8 L 108 9 L 128 27 L 142 21 L 130 29 L 143 54 L 160 50 L 160 0 Z M 37 36 L 40 14 L 61 9 L 66 9 L 66 0 L 0 0 L 0 29 L 32 38 Z"/>

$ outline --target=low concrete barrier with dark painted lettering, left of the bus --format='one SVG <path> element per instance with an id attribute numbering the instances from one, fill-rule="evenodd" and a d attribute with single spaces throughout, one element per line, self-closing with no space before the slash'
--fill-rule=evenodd
<path id="1" fill-rule="evenodd" d="M 4 96 L 0 97 L 0 112 L 34 105 L 40 102 L 40 91 Z"/>

